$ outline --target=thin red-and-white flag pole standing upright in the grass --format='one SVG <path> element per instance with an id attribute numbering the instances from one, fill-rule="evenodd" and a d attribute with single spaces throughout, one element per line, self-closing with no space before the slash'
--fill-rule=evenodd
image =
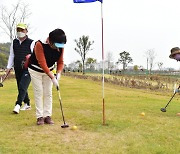
<path id="1" fill-rule="evenodd" d="M 104 100 L 104 39 L 103 39 L 103 3 L 101 3 L 101 28 L 102 28 L 102 66 L 103 66 L 103 73 L 102 73 L 102 113 L 103 113 L 103 125 L 106 124 L 105 122 L 105 100 Z"/>

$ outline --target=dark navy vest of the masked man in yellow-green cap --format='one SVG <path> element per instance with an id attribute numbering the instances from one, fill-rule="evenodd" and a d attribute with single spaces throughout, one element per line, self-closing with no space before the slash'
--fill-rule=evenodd
<path id="1" fill-rule="evenodd" d="M 26 38 L 21 44 L 18 39 L 13 40 L 14 69 L 22 69 L 22 63 L 26 55 L 31 54 L 31 43 L 33 40 Z"/>

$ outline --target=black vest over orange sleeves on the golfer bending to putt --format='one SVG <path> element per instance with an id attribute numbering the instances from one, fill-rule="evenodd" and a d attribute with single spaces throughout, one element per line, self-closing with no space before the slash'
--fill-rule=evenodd
<path id="1" fill-rule="evenodd" d="M 43 46 L 44 56 L 46 59 L 47 66 L 48 66 L 48 68 L 52 68 L 54 66 L 55 62 L 57 62 L 59 60 L 61 53 L 62 53 L 62 49 L 60 49 L 60 52 L 57 52 L 56 49 L 52 49 L 48 44 L 44 44 L 42 42 L 40 42 L 40 43 Z M 35 52 L 33 52 L 33 54 L 31 55 L 29 68 L 31 68 L 37 72 L 44 73 L 44 71 L 42 69 L 38 69 L 37 67 L 34 67 L 33 65 L 36 65 L 39 68 L 41 68 L 36 59 Z M 53 68 L 50 70 L 52 71 Z"/>

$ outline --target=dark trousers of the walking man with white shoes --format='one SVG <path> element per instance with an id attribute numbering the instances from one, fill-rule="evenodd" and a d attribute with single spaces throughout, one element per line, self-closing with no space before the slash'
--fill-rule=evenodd
<path id="1" fill-rule="evenodd" d="M 28 96 L 27 89 L 31 82 L 31 77 L 28 70 L 15 69 L 15 76 L 18 87 L 18 96 L 16 104 L 19 104 L 21 106 L 22 102 L 24 102 L 27 105 L 30 105 L 30 99 Z"/>

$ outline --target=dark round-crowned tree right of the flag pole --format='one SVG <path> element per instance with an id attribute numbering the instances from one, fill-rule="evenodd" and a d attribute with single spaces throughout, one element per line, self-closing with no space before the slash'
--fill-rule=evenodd
<path id="1" fill-rule="evenodd" d="M 117 63 L 123 64 L 123 70 L 125 70 L 129 63 L 133 63 L 133 59 L 130 57 L 130 53 L 126 51 L 119 53 L 119 55 L 120 58 L 118 59 Z"/>

